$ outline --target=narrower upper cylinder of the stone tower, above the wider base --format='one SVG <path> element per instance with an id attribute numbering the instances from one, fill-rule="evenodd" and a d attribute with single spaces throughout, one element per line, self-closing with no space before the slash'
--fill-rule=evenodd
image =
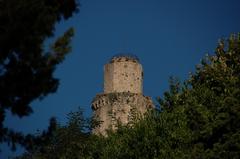
<path id="1" fill-rule="evenodd" d="M 136 60 L 116 58 L 104 66 L 104 93 L 142 93 L 143 71 Z"/>

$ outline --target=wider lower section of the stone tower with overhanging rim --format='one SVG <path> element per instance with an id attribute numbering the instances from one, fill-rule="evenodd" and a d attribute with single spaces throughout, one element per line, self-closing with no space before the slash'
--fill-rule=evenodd
<path id="1" fill-rule="evenodd" d="M 153 108 L 150 97 L 142 94 L 122 92 L 99 94 L 92 102 L 94 117 L 100 125 L 93 130 L 95 134 L 106 135 L 107 129 L 115 130 L 118 122 L 126 125 L 138 115 Z"/>

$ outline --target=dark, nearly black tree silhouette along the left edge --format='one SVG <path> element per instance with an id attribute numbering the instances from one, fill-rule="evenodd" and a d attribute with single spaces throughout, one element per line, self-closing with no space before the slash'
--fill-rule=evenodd
<path id="1" fill-rule="evenodd" d="M 55 24 L 78 11 L 77 0 L 0 0 L 0 143 L 25 144 L 5 126 L 6 110 L 18 117 L 32 113 L 31 102 L 54 93 L 53 72 L 70 52 L 73 29 L 44 49 Z"/>

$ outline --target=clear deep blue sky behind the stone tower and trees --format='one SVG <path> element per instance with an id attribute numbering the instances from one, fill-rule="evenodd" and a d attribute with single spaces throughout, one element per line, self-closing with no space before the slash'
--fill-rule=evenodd
<path id="1" fill-rule="evenodd" d="M 103 65 L 115 54 L 132 53 L 144 68 L 144 94 L 153 99 L 168 89 L 169 76 L 181 80 L 194 71 L 220 38 L 240 32 L 239 0 L 81 0 L 80 12 L 56 26 L 75 28 L 72 52 L 57 67 L 55 94 L 32 103 L 34 113 L 5 124 L 35 133 L 52 116 L 64 123 L 79 106 L 91 115 L 91 100 L 103 90 Z M 47 44 L 48 45 L 48 44 Z M 0 158 L 14 154 L 1 146 Z"/>

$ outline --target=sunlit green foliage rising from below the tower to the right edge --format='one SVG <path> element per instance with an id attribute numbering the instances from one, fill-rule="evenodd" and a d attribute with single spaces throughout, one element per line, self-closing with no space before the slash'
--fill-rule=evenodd
<path id="1" fill-rule="evenodd" d="M 67 133 L 51 138 L 50 147 L 63 141 L 58 158 L 240 158 L 240 35 L 220 41 L 216 54 L 206 56 L 183 84 L 170 78 L 170 90 L 158 101 L 160 111 L 149 111 L 134 125 L 119 125 L 107 137 L 84 136 L 69 122 L 56 130 Z M 68 151 L 74 155 L 66 156 Z M 40 154 L 47 158 L 53 152 Z"/>

